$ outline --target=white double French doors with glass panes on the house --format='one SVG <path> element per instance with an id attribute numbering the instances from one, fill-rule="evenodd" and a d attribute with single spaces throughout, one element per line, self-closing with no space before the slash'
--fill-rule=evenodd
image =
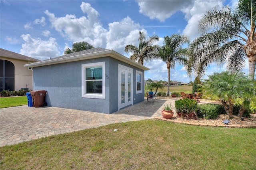
<path id="1" fill-rule="evenodd" d="M 133 105 L 133 69 L 118 64 L 118 110 Z"/>

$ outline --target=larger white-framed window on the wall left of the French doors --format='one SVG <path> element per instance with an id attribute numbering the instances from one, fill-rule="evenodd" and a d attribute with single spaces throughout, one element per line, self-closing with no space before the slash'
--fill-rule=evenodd
<path id="1" fill-rule="evenodd" d="M 105 62 L 82 64 L 82 97 L 105 99 Z"/>

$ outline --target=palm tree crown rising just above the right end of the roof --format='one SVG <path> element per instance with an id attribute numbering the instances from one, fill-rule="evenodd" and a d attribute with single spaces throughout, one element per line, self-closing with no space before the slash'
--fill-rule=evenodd
<path id="1" fill-rule="evenodd" d="M 138 38 L 139 46 L 128 44 L 125 46 L 124 51 L 126 53 L 133 53 L 130 59 L 137 61 L 141 65 L 144 61 L 156 58 L 157 51 L 159 49 L 158 45 L 154 45 L 155 42 L 159 41 L 158 36 L 153 35 L 146 39 L 144 32 L 139 32 L 140 36 Z"/>

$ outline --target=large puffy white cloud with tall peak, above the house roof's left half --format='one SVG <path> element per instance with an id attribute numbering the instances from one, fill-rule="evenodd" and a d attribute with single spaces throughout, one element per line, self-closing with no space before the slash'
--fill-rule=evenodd
<path id="1" fill-rule="evenodd" d="M 87 14 L 76 18 L 75 15 L 66 15 L 56 18 L 53 13 L 46 10 L 44 13 L 49 17 L 52 26 L 63 37 L 73 42 L 86 41 L 94 47 L 106 46 L 106 30 L 98 20 L 98 12 L 88 3 L 82 2 L 81 10 Z"/>

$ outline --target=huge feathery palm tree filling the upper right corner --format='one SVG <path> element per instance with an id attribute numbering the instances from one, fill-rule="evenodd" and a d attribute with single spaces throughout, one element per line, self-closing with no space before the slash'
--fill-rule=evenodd
<path id="1" fill-rule="evenodd" d="M 239 0 L 232 10 L 224 6 L 206 12 L 199 22 L 202 36 L 191 43 L 193 54 L 187 70 L 202 78 L 207 67 L 227 62 L 228 70 L 238 71 L 249 60 L 249 76 L 254 79 L 256 64 L 256 1 Z"/>

